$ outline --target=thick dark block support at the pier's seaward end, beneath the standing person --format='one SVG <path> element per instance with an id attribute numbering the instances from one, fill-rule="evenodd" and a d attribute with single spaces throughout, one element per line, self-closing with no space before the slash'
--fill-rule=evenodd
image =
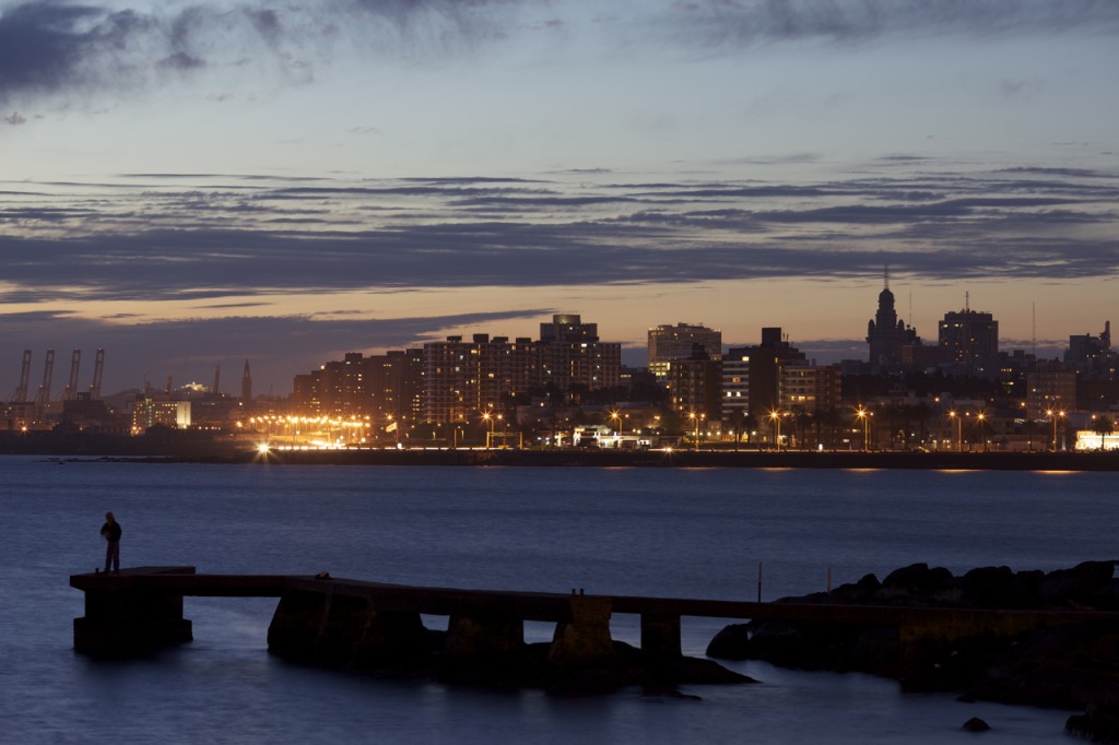
<path id="1" fill-rule="evenodd" d="M 75 651 L 128 657 L 194 639 L 190 621 L 182 617 L 182 595 L 137 588 L 126 572 L 98 577 L 95 584 L 85 590 L 85 616 L 74 619 Z"/>

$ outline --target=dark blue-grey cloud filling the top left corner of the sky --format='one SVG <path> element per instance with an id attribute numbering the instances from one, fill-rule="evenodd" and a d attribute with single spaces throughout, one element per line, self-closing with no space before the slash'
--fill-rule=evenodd
<path id="1" fill-rule="evenodd" d="M 338 48 L 388 58 L 438 58 L 504 38 L 502 0 L 339 0 L 289 4 L 204 2 L 115 10 L 28 0 L 0 10 L 0 104 L 49 95 L 130 91 L 166 73 L 266 70 L 307 82 Z M 228 94 L 225 94 L 228 95 Z"/>

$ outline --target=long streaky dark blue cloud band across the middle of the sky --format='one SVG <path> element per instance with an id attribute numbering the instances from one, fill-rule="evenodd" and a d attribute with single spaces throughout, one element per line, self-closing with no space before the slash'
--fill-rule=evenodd
<path id="1" fill-rule="evenodd" d="M 886 172 L 894 171 L 888 164 Z M 1021 167 L 820 183 L 132 175 L 0 195 L 6 298 L 204 300 L 256 290 L 1112 276 L 1119 179 Z M 159 189 L 148 185 L 161 183 Z M 200 185 L 205 185 L 201 188 Z M 196 188 L 197 187 L 197 188 Z M 78 196 L 75 196 L 78 195 Z M 976 246 L 982 246 L 977 251 Z"/>

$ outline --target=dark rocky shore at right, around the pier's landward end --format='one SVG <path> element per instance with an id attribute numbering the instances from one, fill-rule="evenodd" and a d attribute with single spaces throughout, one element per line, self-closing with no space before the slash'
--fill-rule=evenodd
<path id="1" fill-rule="evenodd" d="M 867 575 L 830 593 L 777 602 L 958 609 L 959 617 L 922 622 L 914 620 L 920 614 L 886 611 L 888 623 L 733 624 L 707 654 L 869 672 L 906 690 L 959 691 L 965 700 L 1082 710 L 1069 719 L 1070 732 L 1119 743 L 1119 615 L 1108 615 L 1119 613 L 1115 565 L 1085 562 L 1049 573 L 981 567 L 955 576 L 913 564 L 881 582 Z"/>

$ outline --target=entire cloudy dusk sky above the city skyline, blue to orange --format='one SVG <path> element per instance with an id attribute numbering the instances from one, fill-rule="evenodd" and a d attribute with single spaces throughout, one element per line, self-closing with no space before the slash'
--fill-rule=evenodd
<path id="1" fill-rule="evenodd" d="M 866 359 L 888 265 L 1052 357 L 1119 321 L 1115 0 L 0 0 L 0 395 L 285 395 L 580 313 Z"/>

